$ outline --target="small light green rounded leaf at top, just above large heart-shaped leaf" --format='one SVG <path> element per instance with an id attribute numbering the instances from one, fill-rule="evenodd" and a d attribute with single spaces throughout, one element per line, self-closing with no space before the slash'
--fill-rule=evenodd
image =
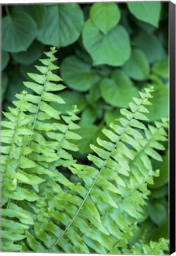
<path id="1" fill-rule="evenodd" d="M 90 18 L 106 34 L 118 24 L 120 10 L 115 2 L 97 2 L 90 8 Z"/>

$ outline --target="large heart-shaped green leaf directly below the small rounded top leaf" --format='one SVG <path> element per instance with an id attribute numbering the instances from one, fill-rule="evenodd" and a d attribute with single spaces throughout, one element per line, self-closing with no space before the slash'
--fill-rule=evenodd
<path id="1" fill-rule="evenodd" d="M 90 53 L 94 66 L 122 66 L 131 54 L 129 36 L 122 25 L 117 25 L 107 34 L 103 34 L 88 20 L 83 28 L 83 44 Z"/>

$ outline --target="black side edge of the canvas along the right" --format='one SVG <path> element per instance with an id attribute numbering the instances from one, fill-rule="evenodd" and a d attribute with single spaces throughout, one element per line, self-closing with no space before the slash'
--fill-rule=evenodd
<path id="1" fill-rule="evenodd" d="M 175 4 L 169 2 L 170 56 L 170 254 L 175 252 Z"/>

